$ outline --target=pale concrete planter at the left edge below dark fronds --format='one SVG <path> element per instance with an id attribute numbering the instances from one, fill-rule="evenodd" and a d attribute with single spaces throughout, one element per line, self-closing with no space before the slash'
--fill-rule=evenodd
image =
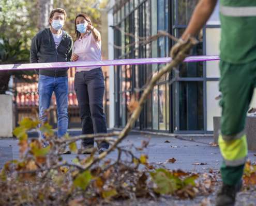
<path id="1" fill-rule="evenodd" d="M 0 94 L 0 137 L 12 138 L 12 131 L 12 96 L 8 94 Z"/>

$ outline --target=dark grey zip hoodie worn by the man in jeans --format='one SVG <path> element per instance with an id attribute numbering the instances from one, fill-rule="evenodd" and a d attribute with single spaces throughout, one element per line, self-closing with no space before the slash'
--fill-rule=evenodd
<path id="1" fill-rule="evenodd" d="M 32 39 L 30 48 L 30 63 L 66 62 L 72 61 L 73 40 L 66 31 L 63 31 L 62 40 L 55 48 L 55 42 L 50 28 L 46 28 Z M 44 68 L 35 70 L 36 74 L 49 77 L 68 76 L 68 68 Z"/>

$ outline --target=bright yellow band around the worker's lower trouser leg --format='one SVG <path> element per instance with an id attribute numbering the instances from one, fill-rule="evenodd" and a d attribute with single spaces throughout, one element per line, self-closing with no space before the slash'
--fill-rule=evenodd
<path id="1" fill-rule="evenodd" d="M 246 135 L 243 135 L 241 139 L 231 141 L 225 141 L 222 136 L 219 135 L 218 143 L 221 155 L 227 161 L 240 160 L 247 156 Z"/>

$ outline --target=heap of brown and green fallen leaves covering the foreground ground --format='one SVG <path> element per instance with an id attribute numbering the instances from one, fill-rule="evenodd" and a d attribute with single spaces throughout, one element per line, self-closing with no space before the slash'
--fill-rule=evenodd
<path id="1" fill-rule="evenodd" d="M 66 135 L 65 139 L 59 140 L 48 124 L 42 124 L 40 130 L 50 143 L 49 147 L 42 148 L 41 142 L 36 139 L 29 141 L 26 134 L 37 125 L 38 122 L 25 118 L 13 131 L 19 140 L 21 159 L 6 163 L 0 172 L 1 205 L 71 205 L 81 198 L 86 199 L 88 205 L 95 205 L 114 199 L 156 198 L 175 193 L 181 198 L 193 198 L 198 193 L 195 184 L 198 175 L 181 170 L 155 169 L 148 165 L 146 155 L 137 158 L 123 148 L 118 148 L 115 162 L 103 160 L 84 169 L 84 165 L 95 158 L 93 151 L 91 156 L 82 156 L 83 159 L 80 156 L 72 164 L 66 163 L 61 157 L 61 148 L 66 142 L 74 144 L 72 139 L 76 137 Z M 142 147 L 135 149 L 141 151 L 148 143 L 144 141 Z M 122 153 L 130 160 L 122 160 Z M 139 169 L 140 165 L 144 165 L 144 169 Z"/>

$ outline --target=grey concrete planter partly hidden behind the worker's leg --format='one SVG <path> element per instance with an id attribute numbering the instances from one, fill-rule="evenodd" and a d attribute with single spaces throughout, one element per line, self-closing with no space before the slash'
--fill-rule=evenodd
<path id="1" fill-rule="evenodd" d="M 214 144 L 218 144 L 220 116 L 214 116 Z M 245 132 L 248 149 L 256 150 L 256 116 L 247 116 Z"/>

